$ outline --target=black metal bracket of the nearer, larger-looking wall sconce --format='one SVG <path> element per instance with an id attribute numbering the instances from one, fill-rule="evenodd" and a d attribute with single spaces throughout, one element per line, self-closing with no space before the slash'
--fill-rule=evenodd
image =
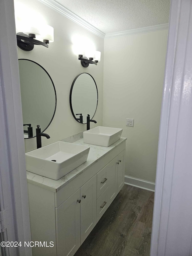
<path id="1" fill-rule="evenodd" d="M 47 48 L 49 47 L 47 43 L 35 40 L 22 32 L 17 33 L 16 37 L 18 47 L 27 52 L 33 50 L 34 45 L 43 45 Z"/>

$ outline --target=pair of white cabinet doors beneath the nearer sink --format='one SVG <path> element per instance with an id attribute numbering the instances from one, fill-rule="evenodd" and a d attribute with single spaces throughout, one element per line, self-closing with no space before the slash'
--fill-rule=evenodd
<path id="1" fill-rule="evenodd" d="M 74 255 L 96 224 L 97 175 L 55 208 L 57 255 Z"/>

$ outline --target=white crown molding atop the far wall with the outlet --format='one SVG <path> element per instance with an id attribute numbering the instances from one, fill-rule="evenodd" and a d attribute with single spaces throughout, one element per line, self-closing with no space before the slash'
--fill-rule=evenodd
<path id="1" fill-rule="evenodd" d="M 159 31 L 159 30 L 168 29 L 168 26 L 169 26 L 169 24 L 165 23 L 165 24 L 160 24 L 160 25 L 155 25 L 155 26 L 150 26 L 150 27 L 145 27 L 145 28 L 131 29 L 131 30 L 125 30 L 125 31 L 120 31 L 120 32 L 114 32 L 114 33 L 107 33 L 105 35 L 105 38 L 115 38 L 115 37 L 137 35 L 137 34 L 148 33 L 148 32 L 155 32 L 155 31 Z"/>

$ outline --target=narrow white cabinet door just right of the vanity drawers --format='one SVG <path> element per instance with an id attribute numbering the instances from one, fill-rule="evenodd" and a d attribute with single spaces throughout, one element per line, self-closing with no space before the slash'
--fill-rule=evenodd
<path id="1" fill-rule="evenodd" d="M 107 181 L 109 205 L 113 202 L 117 195 L 117 172 L 118 172 L 118 156 L 116 156 L 109 164 L 107 164 Z"/>

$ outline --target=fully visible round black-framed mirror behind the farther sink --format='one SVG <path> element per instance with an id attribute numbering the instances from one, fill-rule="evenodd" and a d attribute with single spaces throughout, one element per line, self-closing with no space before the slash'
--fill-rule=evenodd
<path id="1" fill-rule="evenodd" d="M 87 115 L 92 119 L 98 104 L 98 89 L 94 78 L 88 73 L 75 77 L 70 90 L 70 108 L 77 122 L 86 124 Z"/>

